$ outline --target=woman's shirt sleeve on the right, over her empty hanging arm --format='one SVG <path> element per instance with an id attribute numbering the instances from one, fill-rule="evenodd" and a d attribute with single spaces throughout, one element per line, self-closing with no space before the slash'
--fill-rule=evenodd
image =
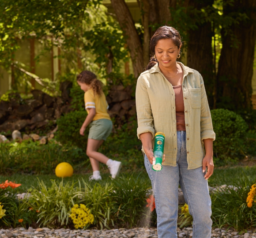
<path id="1" fill-rule="evenodd" d="M 203 78 L 200 74 L 200 84 L 201 84 L 201 119 L 200 119 L 200 130 L 201 130 L 201 141 L 203 143 L 204 139 L 215 140 L 215 133 L 213 131 L 211 112 L 204 88 Z"/>

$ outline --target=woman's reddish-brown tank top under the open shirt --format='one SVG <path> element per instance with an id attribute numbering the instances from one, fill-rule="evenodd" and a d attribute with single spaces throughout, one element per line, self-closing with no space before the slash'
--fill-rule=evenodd
<path id="1" fill-rule="evenodd" d="M 184 115 L 184 101 L 181 85 L 173 86 L 175 93 L 175 107 L 176 107 L 176 122 L 177 130 L 186 130 L 185 115 Z"/>

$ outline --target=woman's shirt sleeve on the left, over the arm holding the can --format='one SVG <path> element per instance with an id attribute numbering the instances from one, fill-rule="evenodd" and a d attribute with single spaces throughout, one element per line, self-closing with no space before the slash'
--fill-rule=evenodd
<path id="1" fill-rule="evenodd" d="M 140 139 L 140 134 L 150 132 L 152 139 L 154 138 L 154 124 L 151 111 L 151 104 L 147 92 L 147 86 L 143 75 L 140 75 L 136 86 L 136 110 L 138 118 L 137 136 Z"/>

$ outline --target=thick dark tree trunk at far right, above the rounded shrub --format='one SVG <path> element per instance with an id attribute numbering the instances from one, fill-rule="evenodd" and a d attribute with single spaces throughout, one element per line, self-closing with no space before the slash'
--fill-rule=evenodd
<path id="1" fill-rule="evenodd" d="M 252 74 L 256 41 L 256 1 L 235 0 L 223 6 L 223 15 L 246 13 L 248 19 L 222 29 L 222 52 L 218 63 L 217 106 L 230 110 L 252 108 Z"/>

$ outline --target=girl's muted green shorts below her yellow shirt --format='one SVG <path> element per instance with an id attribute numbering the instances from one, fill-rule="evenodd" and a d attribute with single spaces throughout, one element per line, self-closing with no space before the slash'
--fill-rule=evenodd
<path id="1" fill-rule="evenodd" d="M 92 121 L 90 123 L 88 139 L 105 141 L 107 137 L 110 135 L 112 128 L 112 121 L 108 119 L 98 119 L 96 121 Z"/>

